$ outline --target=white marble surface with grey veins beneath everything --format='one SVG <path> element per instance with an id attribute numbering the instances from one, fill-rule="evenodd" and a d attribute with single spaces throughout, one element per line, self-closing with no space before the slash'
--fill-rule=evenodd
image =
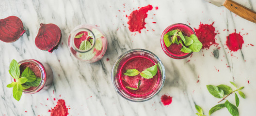
<path id="1" fill-rule="evenodd" d="M 256 0 L 236 1 L 256 11 Z M 148 4 L 154 8 L 145 19 L 146 29 L 141 33 L 130 32 L 126 14 Z M 229 81 L 245 87 L 242 91 L 246 99 L 240 99 L 240 116 L 256 114 L 256 47 L 248 45 L 256 45 L 256 24 L 223 6 L 217 7 L 204 0 L 0 0 L 0 19 L 10 15 L 18 16 L 27 31 L 14 43 L 0 41 L 0 116 L 50 116 L 48 109 L 53 108 L 58 99 L 63 99 L 70 108 L 68 116 L 195 116 L 195 103 L 208 114 L 219 101 L 209 94 L 206 85 L 231 86 Z M 167 26 L 185 23 L 198 29 L 200 22 L 215 22 L 213 26 L 220 32 L 216 35 L 216 43 L 224 45 L 219 50 L 219 58 L 212 55 L 216 49 L 213 45 L 208 50 L 193 53 L 191 58 L 176 60 L 164 54 L 160 35 Z M 34 44 L 40 23 L 54 23 L 62 30 L 61 44 L 52 53 L 42 51 Z M 67 47 L 69 32 L 86 23 L 97 25 L 108 38 L 105 56 L 91 64 L 72 57 Z M 226 36 L 234 29 L 245 34 L 244 44 L 241 50 L 230 52 L 225 45 Z M 133 48 L 152 51 L 166 69 L 164 87 L 146 102 L 125 100 L 117 94 L 111 82 L 114 61 Z M 43 93 L 23 94 L 17 102 L 12 89 L 6 87 L 11 82 L 9 63 L 12 59 L 27 58 L 51 66 L 53 86 Z M 160 102 L 164 94 L 173 97 L 170 105 L 164 106 Z M 228 100 L 235 103 L 234 94 Z M 231 115 L 223 109 L 212 116 Z"/>

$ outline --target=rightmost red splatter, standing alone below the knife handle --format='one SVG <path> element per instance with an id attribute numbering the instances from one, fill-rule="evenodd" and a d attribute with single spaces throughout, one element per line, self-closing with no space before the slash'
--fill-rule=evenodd
<path id="1" fill-rule="evenodd" d="M 236 33 L 236 29 L 234 33 L 229 34 L 227 37 L 226 45 L 231 51 L 238 51 L 242 49 L 243 38 L 239 33 Z"/>

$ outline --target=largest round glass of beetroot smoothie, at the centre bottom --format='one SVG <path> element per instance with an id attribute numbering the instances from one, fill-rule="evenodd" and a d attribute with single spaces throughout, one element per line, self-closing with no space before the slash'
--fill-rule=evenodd
<path id="1" fill-rule="evenodd" d="M 140 74 L 128 76 L 128 69 L 143 73 L 156 65 L 156 73 L 150 78 Z M 125 99 L 132 102 L 144 102 L 157 95 L 163 87 L 165 70 L 161 60 L 152 52 L 144 49 L 132 49 L 121 55 L 112 68 L 112 83 L 115 90 Z M 136 90 L 135 90 L 136 88 Z"/>

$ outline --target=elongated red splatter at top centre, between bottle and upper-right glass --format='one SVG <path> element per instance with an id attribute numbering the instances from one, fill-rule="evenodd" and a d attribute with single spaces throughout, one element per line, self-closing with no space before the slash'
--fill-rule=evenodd
<path id="1" fill-rule="evenodd" d="M 127 22 L 129 25 L 129 30 L 131 32 L 139 31 L 139 33 L 141 33 L 141 29 L 145 29 L 145 18 L 147 17 L 147 12 L 152 9 L 152 5 L 147 5 L 139 10 L 131 12 L 131 14 L 128 16 L 129 21 Z"/>

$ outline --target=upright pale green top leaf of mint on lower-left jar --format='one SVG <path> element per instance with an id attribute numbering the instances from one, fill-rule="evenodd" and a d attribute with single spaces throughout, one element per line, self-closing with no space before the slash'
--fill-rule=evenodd
<path id="1" fill-rule="evenodd" d="M 12 77 L 15 79 L 18 79 L 20 75 L 20 71 L 19 71 L 18 62 L 15 59 L 11 61 L 9 68 L 10 68 L 9 73 L 12 75 Z"/>

